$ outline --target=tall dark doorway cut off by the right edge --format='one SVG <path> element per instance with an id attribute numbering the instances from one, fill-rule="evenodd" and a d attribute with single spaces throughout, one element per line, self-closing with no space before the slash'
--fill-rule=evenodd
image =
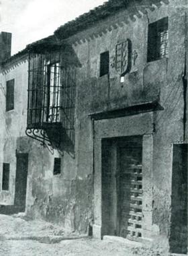
<path id="1" fill-rule="evenodd" d="M 170 249 L 187 253 L 187 144 L 173 145 Z"/>

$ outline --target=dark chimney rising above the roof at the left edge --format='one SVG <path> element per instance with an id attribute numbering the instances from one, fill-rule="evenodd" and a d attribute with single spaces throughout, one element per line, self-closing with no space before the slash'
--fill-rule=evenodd
<path id="1" fill-rule="evenodd" d="M 0 63 L 11 57 L 11 33 L 0 33 Z"/>

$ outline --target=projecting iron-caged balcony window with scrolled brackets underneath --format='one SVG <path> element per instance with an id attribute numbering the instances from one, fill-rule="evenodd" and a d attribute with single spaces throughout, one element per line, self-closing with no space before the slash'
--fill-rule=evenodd
<path id="1" fill-rule="evenodd" d="M 74 145 L 76 68 L 64 65 L 60 51 L 29 55 L 26 134 L 46 148 Z"/>

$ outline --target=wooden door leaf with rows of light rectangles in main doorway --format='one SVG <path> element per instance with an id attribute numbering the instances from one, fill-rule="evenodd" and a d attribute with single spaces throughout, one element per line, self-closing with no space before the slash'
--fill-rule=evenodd
<path id="1" fill-rule="evenodd" d="M 118 235 L 138 240 L 142 236 L 142 144 L 134 139 L 118 148 Z"/>

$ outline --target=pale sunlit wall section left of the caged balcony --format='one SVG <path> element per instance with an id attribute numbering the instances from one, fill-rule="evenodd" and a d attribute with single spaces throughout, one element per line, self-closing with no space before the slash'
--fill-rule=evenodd
<path id="1" fill-rule="evenodd" d="M 6 82 L 15 79 L 14 109 L 6 111 Z M 1 68 L 0 73 L 0 202 L 13 205 L 15 193 L 15 165 L 17 138 L 25 135 L 27 118 L 28 61 L 22 56 Z M 10 163 L 9 191 L 2 191 L 3 162 Z"/>

